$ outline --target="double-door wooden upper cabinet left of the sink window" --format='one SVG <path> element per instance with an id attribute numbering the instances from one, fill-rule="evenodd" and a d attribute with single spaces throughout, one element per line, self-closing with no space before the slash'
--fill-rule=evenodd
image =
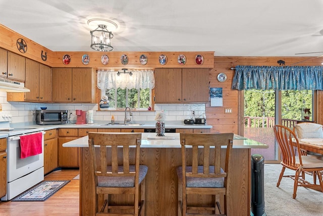
<path id="1" fill-rule="evenodd" d="M 91 68 L 53 68 L 53 102 L 95 102 L 95 71 Z"/>

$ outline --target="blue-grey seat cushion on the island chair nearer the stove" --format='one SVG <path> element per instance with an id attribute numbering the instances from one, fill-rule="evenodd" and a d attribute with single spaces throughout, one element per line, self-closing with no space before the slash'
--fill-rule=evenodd
<path id="1" fill-rule="evenodd" d="M 130 172 L 135 172 L 135 166 L 129 166 Z M 111 172 L 112 167 L 107 166 L 107 171 Z M 123 166 L 118 167 L 119 172 L 123 172 Z M 139 165 L 139 184 L 145 178 L 148 172 L 148 167 L 144 165 Z M 135 177 L 97 177 L 97 186 L 98 187 L 134 187 L 135 186 Z"/>

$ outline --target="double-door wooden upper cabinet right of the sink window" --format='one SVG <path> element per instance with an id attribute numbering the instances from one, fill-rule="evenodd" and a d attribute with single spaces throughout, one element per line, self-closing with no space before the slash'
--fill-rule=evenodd
<path id="1" fill-rule="evenodd" d="M 208 78 L 208 69 L 155 69 L 155 102 L 208 102 Z"/>

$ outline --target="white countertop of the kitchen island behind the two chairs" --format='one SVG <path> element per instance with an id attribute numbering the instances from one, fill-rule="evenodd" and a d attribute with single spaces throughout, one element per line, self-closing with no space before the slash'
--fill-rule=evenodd
<path id="1" fill-rule="evenodd" d="M 141 133 L 141 148 L 180 148 L 180 133 L 165 133 L 169 139 L 148 139 L 155 133 Z M 173 138 L 174 137 L 174 138 Z M 63 147 L 88 147 L 88 136 L 81 137 L 63 144 Z M 235 135 L 233 148 L 268 148 L 268 145 L 252 139 Z"/>

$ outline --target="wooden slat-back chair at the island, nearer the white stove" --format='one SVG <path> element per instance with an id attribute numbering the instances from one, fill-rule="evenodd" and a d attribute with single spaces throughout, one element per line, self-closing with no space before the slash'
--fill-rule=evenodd
<path id="1" fill-rule="evenodd" d="M 141 133 L 89 132 L 88 137 L 96 215 L 145 215 L 148 168 L 139 165 Z M 129 201 L 118 203 L 117 194 Z"/>

